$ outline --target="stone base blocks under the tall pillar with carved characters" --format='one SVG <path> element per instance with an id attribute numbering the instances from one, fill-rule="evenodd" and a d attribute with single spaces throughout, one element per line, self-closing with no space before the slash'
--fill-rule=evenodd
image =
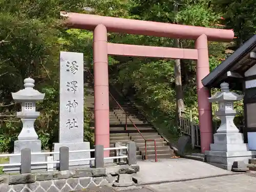
<path id="1" fill-rule="evenodd" d="M 61 146 L 69 147 L 69 151 L 79 151 L 79 150 L 90 150 L 90 142 L 75 142 L 75 143 L 53 143 L 54 152 L 59 152 Z M 74 159 L 88 159 L 91 158 L 90 152 L 79 152 L 79 153 L 70 153 L 69 160 Z M 59 160 L 59 154 L 54 154 L 54 161 Z M 74 161 L 69 163 L 70 166 L 90 166 L 90 161 Z"/>

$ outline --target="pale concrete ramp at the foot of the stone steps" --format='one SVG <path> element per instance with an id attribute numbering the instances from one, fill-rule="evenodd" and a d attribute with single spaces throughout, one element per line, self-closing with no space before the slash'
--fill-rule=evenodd
<path id="1" fill-rule="evenodd" d="M 233 174 L 228 170 L 191 159 L 159 159 L 138 161 L 140 171 L 137 173 L 138 184 L 161 183 L 167 181 L 188 180 Z"/>

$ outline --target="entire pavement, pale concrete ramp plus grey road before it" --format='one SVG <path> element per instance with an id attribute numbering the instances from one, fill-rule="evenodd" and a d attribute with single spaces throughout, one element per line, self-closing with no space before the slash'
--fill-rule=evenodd
<path id="1" fill-rule="evenodd" d="M 255 192 L 256 174 L 238 174 L 190 159 L 138 162 L 139 188 L 126 192 Z M 254 177 L 252 177 L 254 176 Z"/>

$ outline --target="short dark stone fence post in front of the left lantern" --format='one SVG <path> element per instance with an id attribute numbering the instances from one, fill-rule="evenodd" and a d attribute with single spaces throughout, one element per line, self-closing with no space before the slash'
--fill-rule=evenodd
<path id="1" fill-rule="evenodd" d="M 31 173 L 31 150 L 30 148 L 23 148 L 20 157 L 20 174 Z"/>

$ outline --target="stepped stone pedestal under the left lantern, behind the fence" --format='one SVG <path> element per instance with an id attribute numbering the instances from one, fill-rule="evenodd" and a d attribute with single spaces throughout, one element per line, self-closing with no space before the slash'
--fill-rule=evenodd
<path id="1" fill-rule="evenodd" d="M 17 140 L 14 141 L 14 154 L 20 154 L 22 149 L 30 148 L 31 153 L 40 153 L 41 152 L 41 141 L 36 140 Z M 47 161 L 47 155 L 31 155 L 31 162 L 45 162 Z M 12 156 L 9 160 L 10 163 L 20 163 L 20 156 Z M 31 169 L 44 169 L 46 164 L 34 164 L 31 165 Z M 8 166 L 4 167 L 4 171 L 13 171 L 19 170 L 20 166 Z"/>

